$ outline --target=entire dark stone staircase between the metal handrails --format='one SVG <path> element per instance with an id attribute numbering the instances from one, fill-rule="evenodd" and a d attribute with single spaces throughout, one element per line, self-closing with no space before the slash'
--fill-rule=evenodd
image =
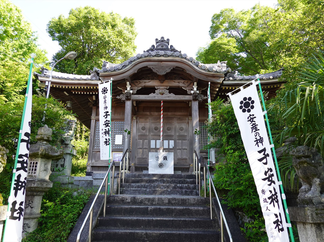
<path id="1" fill-rule="evenodd" d="M 220 241 L 209 199 L 199 196 L 195 176 L 125 174 L 121 195 L 109 196 L 92 242 Z"/>

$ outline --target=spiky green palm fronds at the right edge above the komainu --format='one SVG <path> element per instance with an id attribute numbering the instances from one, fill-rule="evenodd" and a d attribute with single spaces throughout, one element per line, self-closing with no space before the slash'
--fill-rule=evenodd
<path id="1" fill-rule="evenodd" d="M 324 52 L 312 55 L 298 70 L 297 87 L 276 99 L 276 121 L 284 126 L 277 139 L 297 138 L 295 145 L 318 149 L 324 157 Z"/>

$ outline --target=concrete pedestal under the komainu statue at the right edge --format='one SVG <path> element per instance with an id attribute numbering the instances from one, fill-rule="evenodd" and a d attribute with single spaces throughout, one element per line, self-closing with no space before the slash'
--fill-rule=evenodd
<path id="1" fill-rule="evenodd" d="M 300 242 L 324 241 L 324 206 L 288 207 L 291 221 L 297 222 Z"/>

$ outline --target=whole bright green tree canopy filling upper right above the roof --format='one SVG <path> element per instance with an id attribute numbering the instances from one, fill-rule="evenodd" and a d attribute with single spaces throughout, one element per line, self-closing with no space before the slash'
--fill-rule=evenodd
<path id="1" fill-rule="evenodd" d="M 284 67 L 282 79 L 297 79 L 299 63 L 324 44 L 324 3 L 317 0 L 278 0 L 276 8 L 255 5 L 214 14 L 211 43 L 198 50 L 198 60 L 227 65 L 254 75 Z M 288 86 L 287 86 L 288 87 Z M 294 87 L 293 87 L 294 89 Z"/>

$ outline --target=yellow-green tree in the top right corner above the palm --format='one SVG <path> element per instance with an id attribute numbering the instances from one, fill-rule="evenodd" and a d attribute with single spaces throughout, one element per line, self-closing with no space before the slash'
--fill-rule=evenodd
<path id="1" fill-rule="evenodd" d="M 318 0 L 278 0 L 269 23 L 271 55 L 284 67 L 285 89 L 299 82 L 299 65 L 324 45 L 324 2 Z M 282 92 L 283 94 L 285 93 Z"/>

